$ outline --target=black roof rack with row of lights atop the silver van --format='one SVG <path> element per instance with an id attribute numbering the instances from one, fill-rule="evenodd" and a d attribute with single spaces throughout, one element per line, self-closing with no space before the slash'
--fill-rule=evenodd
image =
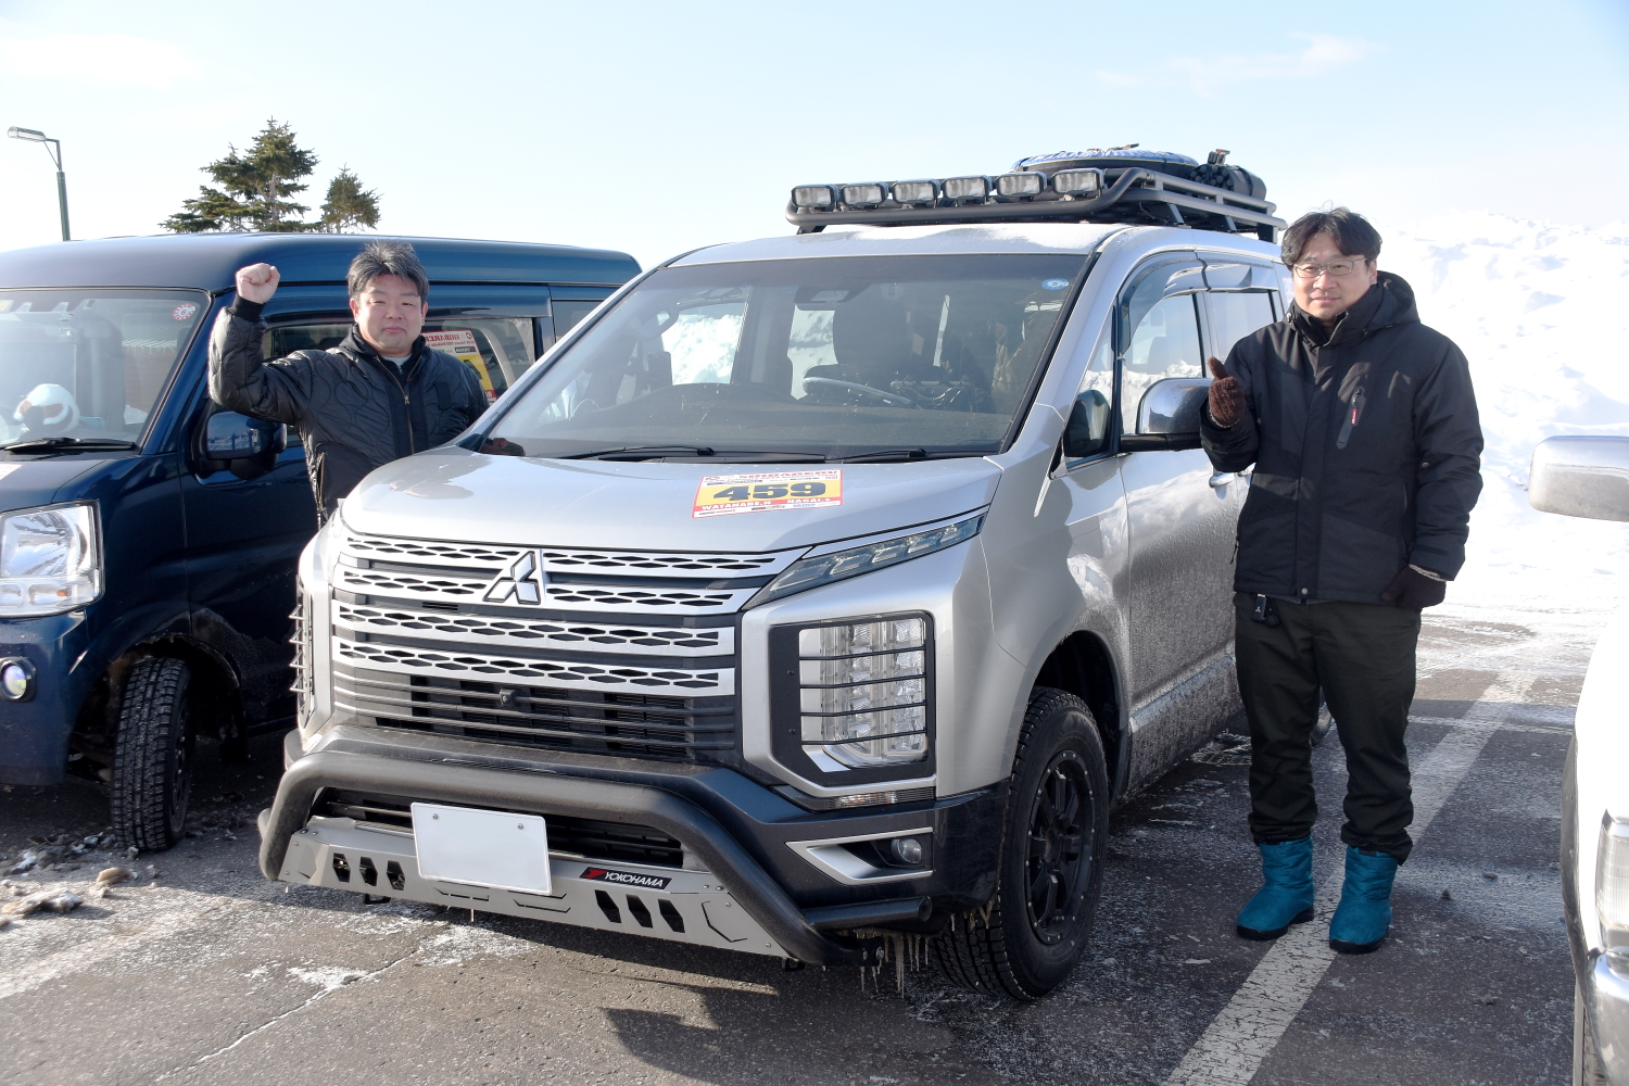
<path id="1" fill-rule="evenodd" d="M 1241 192 L 1132 166 L 798 186 L 787 204 L 787 221 L 800 234 L 855 223 L 1135 223 L 1277 241 L 1285 221 L 1274 217 L 1276 210 L 1276 204 Z"/>

